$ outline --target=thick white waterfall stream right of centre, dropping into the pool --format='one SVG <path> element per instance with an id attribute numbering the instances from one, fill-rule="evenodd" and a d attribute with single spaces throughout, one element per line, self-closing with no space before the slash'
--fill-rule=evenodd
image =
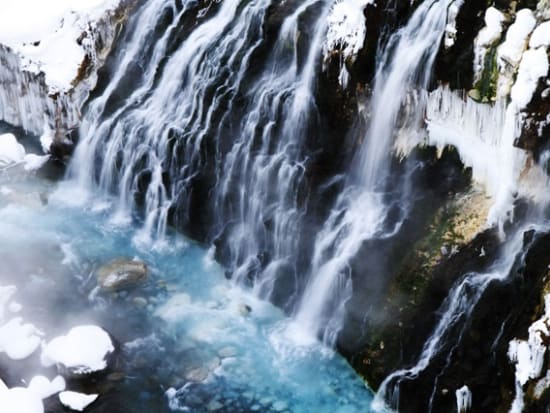
<path id="1" fill-rule="evenodd" d="M 351 296 L 350 261 L 361 245 L 384 233 L 388 206 L 387 183 L 391 148 L 400 110 L 408 93 L 428 86 L 432 66 L 445 31 L 451 0 L 426 0 L 408 24 L 392 35 L 384 47 L 375 78 L 371 118 L 348 188 L 319 233 L 311 278 L 300 301 L 296 319 L 310 334 L 333 345 L 341 328 L 345 303 Z M 422 110 L 415 112 L 420 119 Z"/>

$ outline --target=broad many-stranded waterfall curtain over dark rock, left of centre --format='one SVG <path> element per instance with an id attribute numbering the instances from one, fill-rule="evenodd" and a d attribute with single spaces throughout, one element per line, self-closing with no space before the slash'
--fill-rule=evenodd
<path id="1" fill-rule="evenodd" d="M 171 223 L 208 222 L 228 273 L 269 299 L 281 272 L 297 278 L 331 2 L 277 5 L 271 26 L 270 0 L 204 4 L 142 6 L 88 105 L 69 177 L 83 200 L 110 200 L 115 224 L 142 220 L 139 245 L 162 245 Z"/>

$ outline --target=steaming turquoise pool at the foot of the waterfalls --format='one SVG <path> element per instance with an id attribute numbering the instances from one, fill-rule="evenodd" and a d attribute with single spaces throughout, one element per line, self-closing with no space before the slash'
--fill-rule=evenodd
<path id="1" fill-rule="evenodd" d="M 87 384 L 103 394 L 87 411 L 369 412 L 348 364 L 295 344 L 299 327 L 227 281 L 212 251 L 178 235 L 140 244 L 108 201 L 82 200 L 70 183 L 0 174 L 0 284 L 18 286 L 24 319 L 45 338 L 99 324 L 119 344 L 118 377 Z M 94 270 L 121 256 L 145 261 L 149 280 L 98 294 Z"/>

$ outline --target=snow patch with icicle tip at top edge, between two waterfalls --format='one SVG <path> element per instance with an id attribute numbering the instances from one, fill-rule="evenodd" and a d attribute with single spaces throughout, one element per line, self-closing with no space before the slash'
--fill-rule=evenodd
<path id="1" fill-rule="evenodd" d="M 333 51 L 340 50 L 340 84 L 347 86 L 349 73 L 345 67 L 348 59 L 354 59 L 363 47 L 367 26 L 364 10 L 374 0 L 337 0 L 328 15 L 327 37 L 324 46 L 325 60 Z"/>

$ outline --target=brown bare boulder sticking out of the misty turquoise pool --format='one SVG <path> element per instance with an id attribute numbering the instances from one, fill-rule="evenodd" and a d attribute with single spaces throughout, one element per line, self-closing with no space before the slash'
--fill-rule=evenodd
<path id="1" fill-rule="evenodd" d="M 120 291 L 132 288 L 147 279 L 149 270 L 142 261 L 117 258 L 101 266 L 97 272 L 97 281 L 105 291 Z"/>

